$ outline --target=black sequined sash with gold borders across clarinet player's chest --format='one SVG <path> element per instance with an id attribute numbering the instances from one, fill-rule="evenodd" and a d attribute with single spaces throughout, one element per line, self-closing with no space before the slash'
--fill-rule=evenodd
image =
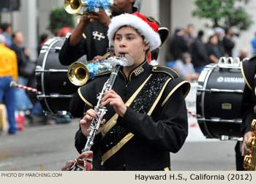
<path id="1" fill-rule="evenodd" d="M 151 115 L 169 81 L 170 75 L 154 73 L 148 76 L 127 101 L 126 106 L 138 113 Z M 102 164 L 125 145 L 134 134 L 118 125 L 118 115 L 113 115 L 102 129 Z"/>

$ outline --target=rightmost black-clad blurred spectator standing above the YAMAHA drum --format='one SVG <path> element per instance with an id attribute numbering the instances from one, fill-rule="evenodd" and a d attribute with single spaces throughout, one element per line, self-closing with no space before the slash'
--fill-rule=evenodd
<path id="1" fill-rule="evenodd" d="M 232 28 L 225 29 L 225 37 L 222 40 L 222 44 L 225 50 L 225 55 L 227 55 L 228 57 L 232 57 L 232 50 L 233 47 L 235 47 Z"/>

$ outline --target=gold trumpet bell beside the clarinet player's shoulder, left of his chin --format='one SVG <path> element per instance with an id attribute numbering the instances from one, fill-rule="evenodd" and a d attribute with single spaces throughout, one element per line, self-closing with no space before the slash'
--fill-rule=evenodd
<path id="1" fill-rule="evenodd" d="M 67 77 L 74 85 L 85 85 L 87 80 L 89 80 L 89 70 L 85 64 L 75 62 L 69 66 Z"/>

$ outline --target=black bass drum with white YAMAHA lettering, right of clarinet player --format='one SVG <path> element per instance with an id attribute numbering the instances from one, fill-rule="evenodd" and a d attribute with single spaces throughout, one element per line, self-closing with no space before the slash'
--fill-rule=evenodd
<path id="1" fill-rule="evenodd" d="M 197 85 L 197 122 L 206 138 L 241 136 L 241 102 L 245 81 L 240 65 L 209 64 Z"/>

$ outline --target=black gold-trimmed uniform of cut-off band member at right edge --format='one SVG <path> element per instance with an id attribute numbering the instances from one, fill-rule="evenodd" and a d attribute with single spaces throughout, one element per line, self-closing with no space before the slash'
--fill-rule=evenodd
<path id="1" fill-rule="evenodd" d="M 252 120 L 256 118 L 256 55 L 252 56 L 247 61 L 241 61 L 241 72 L 243 74 L 246 85 L 244 86 L 242 100 L 242 135 L 251 130 Z M 240 145 L 241 147 L 241 145 Z M 238 145 L 236 145 L 238 149 Z M 236 150 L 236 154 L 237 154 Z M 240 153 L 240 151 L 239 151 Z M 240 153 L 241 154 L 241 153 Z M 241 158 L 240 169 L 243 169 L 244 157 Z M 239 165 L 239 164 L 238 164 Z"/>

